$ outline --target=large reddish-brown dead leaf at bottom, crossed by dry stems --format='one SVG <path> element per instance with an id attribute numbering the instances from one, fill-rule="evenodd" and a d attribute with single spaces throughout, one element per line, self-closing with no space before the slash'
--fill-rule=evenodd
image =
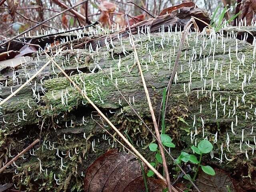
<path id="1" fill-rule="evenodd" d="M 162 192 L 160 180 L 148 178 L 150 191 Z M 145 190 L 140 163 L 132 154 L 109 150 L 87 169 L 84 192 L 142 192 Z"/>

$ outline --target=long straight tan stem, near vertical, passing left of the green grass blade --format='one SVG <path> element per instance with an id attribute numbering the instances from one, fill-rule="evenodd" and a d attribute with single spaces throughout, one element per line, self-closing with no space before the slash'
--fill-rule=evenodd
<path id="1" fill-rule="evenodd" d="M 161 142 L 161 138 L 160 138 L 157 122 L 156 122 L 156 117 L 155 117 L 155 114 L 154 114 L 154 110 L 153 110 L 153 107 L 152 107 L 152 103 L 151 103 L 151 100 L 150 100 L 150 96 L 149 96 L 149 93 L 148 93 L 148 88 L 146 86 L 144 75 L 143 75 L 143 72 L 142 72 L 142 69 L 141 69 L 141 66 L 140 66 L 140 60 L 138 58 L 137 50 L 136 50 L 136 47 L 135 47 L 135 44 L 134 44 L 134 39 L 132 37 L 132 31 L 131 31 L 131 28 L 130 28 L 130 24 L 129 24 L 127 15 L 126 15 L 126 20 L 127 20 L 129 31 L 130 31 L 130 37 L 132 39 L 132 47 L 133 47 L 133 50 L 134 50 L 134 57 L 136 58 L 136 61 L 137 61 L 137 65 L 138 65 L 138 69 L 139 69 L 139 72 L 140 72 L 142 84 L 143 84 L 143 87 L 144 87 L 144 90 L 145 90 L 146 98 L 148 100 L 148 107 L 149 107 L 149 110 L 150 110 L 150 114 L 152 116 L 155 132 L 156 132 L 156 137 L 158 138 L 158 141 Z M 165 176 L 166 176 L 168 192 L 172 192 L 172 184 L 171 184 L 171 181 L 170 181 L 170 175 L 169 175 L 169 171 L 168 171 L 168 167 L 167 167 L 167 163 L 166 163 L 166 158 L 165 158 L 165 155 L 164 155 L 164 149 L 161 145 L 159 145 L 159 149 L 160 149 L 160 153 L 161 153 L 161 156 L 162 156 L 162 163 L 163 163 L 164 172 L 165 172 Z"/>

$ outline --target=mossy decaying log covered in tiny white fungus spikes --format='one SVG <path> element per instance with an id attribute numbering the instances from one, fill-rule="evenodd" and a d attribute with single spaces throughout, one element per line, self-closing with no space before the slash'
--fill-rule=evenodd
<path id="1" fill-rule="evenodd" d="M 178 32 L 135 35 L 136 48 L 157 116 L 162 92 L 168 84 L 176 59 L 179 38 Z M 236 40 L 229 37 L 206 34 L 196 36 L 195 33 L 188 35 L 179 60 L 177 78 L 172 84 L 166 114 L 166 132 L 176 144 L 176 148 L 171 150 L 174 157 L 181 150 L 191 152 L 190 146 L 207 138 L 214 143 L 214 157 L 221 159 L 222 156 L 223 162 L 220 163 L 210 155 L 204 157 L 204 162 L 225 168 L 240 178 L 251 176 L 254 172 L 255 156 L 252 153 L 256 143 L 252 127 L 255 127 L 256 119 L 256 78 L 253 50 L 254 46 L 238 40 L 236 51 Z M 152 136 L 106 75 L 112 76 L 112 81 L 148 126 L 152 127 L 138 70 L 136 67 L 130 73 L 127 70 L 134 64 L 129 38 L 123 38 L 122 43 L 114 42 L 111 50 L 102 47 L 93 53 L 86 49 L 64 51 L 55 59 L 111 122 L 122 132 L 128 131 L 134 142 L 138 141 L 138 150 L 149 161 L 152 160 L 152 154 L 147 148 L 152 142 Z M 14 82 L 17 78 L 18 84 L 21 80 L 24 83 L 26 78 L 35 73 L 36 68 L 39 69 L 46 62 L 45 56 L 41 56 L 38 61 L 34 58 L 28 62 L 26 70 L 25 65 L 17 69 L 14 77 L 10 75 L 12 70 L 0 74 L 0 80 L 4 83 L 1 86 L 2 98 L 11 94 L 11 86 L 12 91 L 19 87 Z M 89 164 L 108 148 L 119 146 L 92 120 L 95 118 L 101 122 L 95 110 L 52 65 L 36 78 L 36 84 L 33 82 L 26 86 L 6 102 L 1 112 L 1 164 L 36 138 L 40 137 L 41 140 L 40 146 L 34 147 L 34 155 L 31 155 L 33 151 L 25 154 L 26 159 L 19 158 L 16 162 L 18 167 L 9 167 L 0 176 L 1 182 L 13 179 L 16 186 L 22 189 L 82 190 L 82 179 Z M 25 120 L 22 119 L 23 113 Z M 231 130 L 232 122 L 234 134 Z M 106 122 L 102 123 L 110 129 Z M 216 132 L 217 140 L 214 141 Z M 227 136 L 230 140 L 229 148 Z M 96 152 L 92 150 L 92 142 Z M 57 148 L 66 167 L 61 167 Z M 226 160 L 225 154 L 231 161 Z M 171 160 L 168 162 L 171 168 L 173 163 Z M 242 168 L 246 168 L 246 171 L 241 171 Z M 60 185 L 56 184 L 54 174 L 60 179 Z"/>

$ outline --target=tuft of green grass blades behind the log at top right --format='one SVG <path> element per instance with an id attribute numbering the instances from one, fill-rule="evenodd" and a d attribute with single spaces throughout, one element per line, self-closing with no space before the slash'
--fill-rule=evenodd
<path id="1" fill-rule="evenodd" d="M 226 12 L 228 12 L 228 7 L 225 6 L 224 9 L 222 10 L 222 12 L 217 16 L 218 10 L 220 9 L 219 5 L 215 10 L 214 13 L 212 14 L 212 20 L 210 22 L 210 26 L 212 28 L 214 28 L 215 32 L 218 32 L 219 30 L 221 30 L 223 28 L 223 26 L 225 26 L 226 24 L 229 24 L 230 22 L 232 22 L 240 13 L 235 14 L 234 16 L 232 16 L 229 20 L 227 20 L 226 22 L 224 21 L 224 16 L 226 14 Z"/>

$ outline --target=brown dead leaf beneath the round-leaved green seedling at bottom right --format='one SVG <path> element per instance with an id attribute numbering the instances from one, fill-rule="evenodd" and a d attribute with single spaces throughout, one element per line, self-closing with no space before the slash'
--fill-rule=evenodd
<path id="1" fill-rule="evenodd" d="M 200 191 L 228 192 L 227 186 L 232 192 L 236 191 L 230 176 L 224 170 L 215 168 L 214 171 L 216 173 L 215 176 L 200 172 L 196 180 Z"/>

